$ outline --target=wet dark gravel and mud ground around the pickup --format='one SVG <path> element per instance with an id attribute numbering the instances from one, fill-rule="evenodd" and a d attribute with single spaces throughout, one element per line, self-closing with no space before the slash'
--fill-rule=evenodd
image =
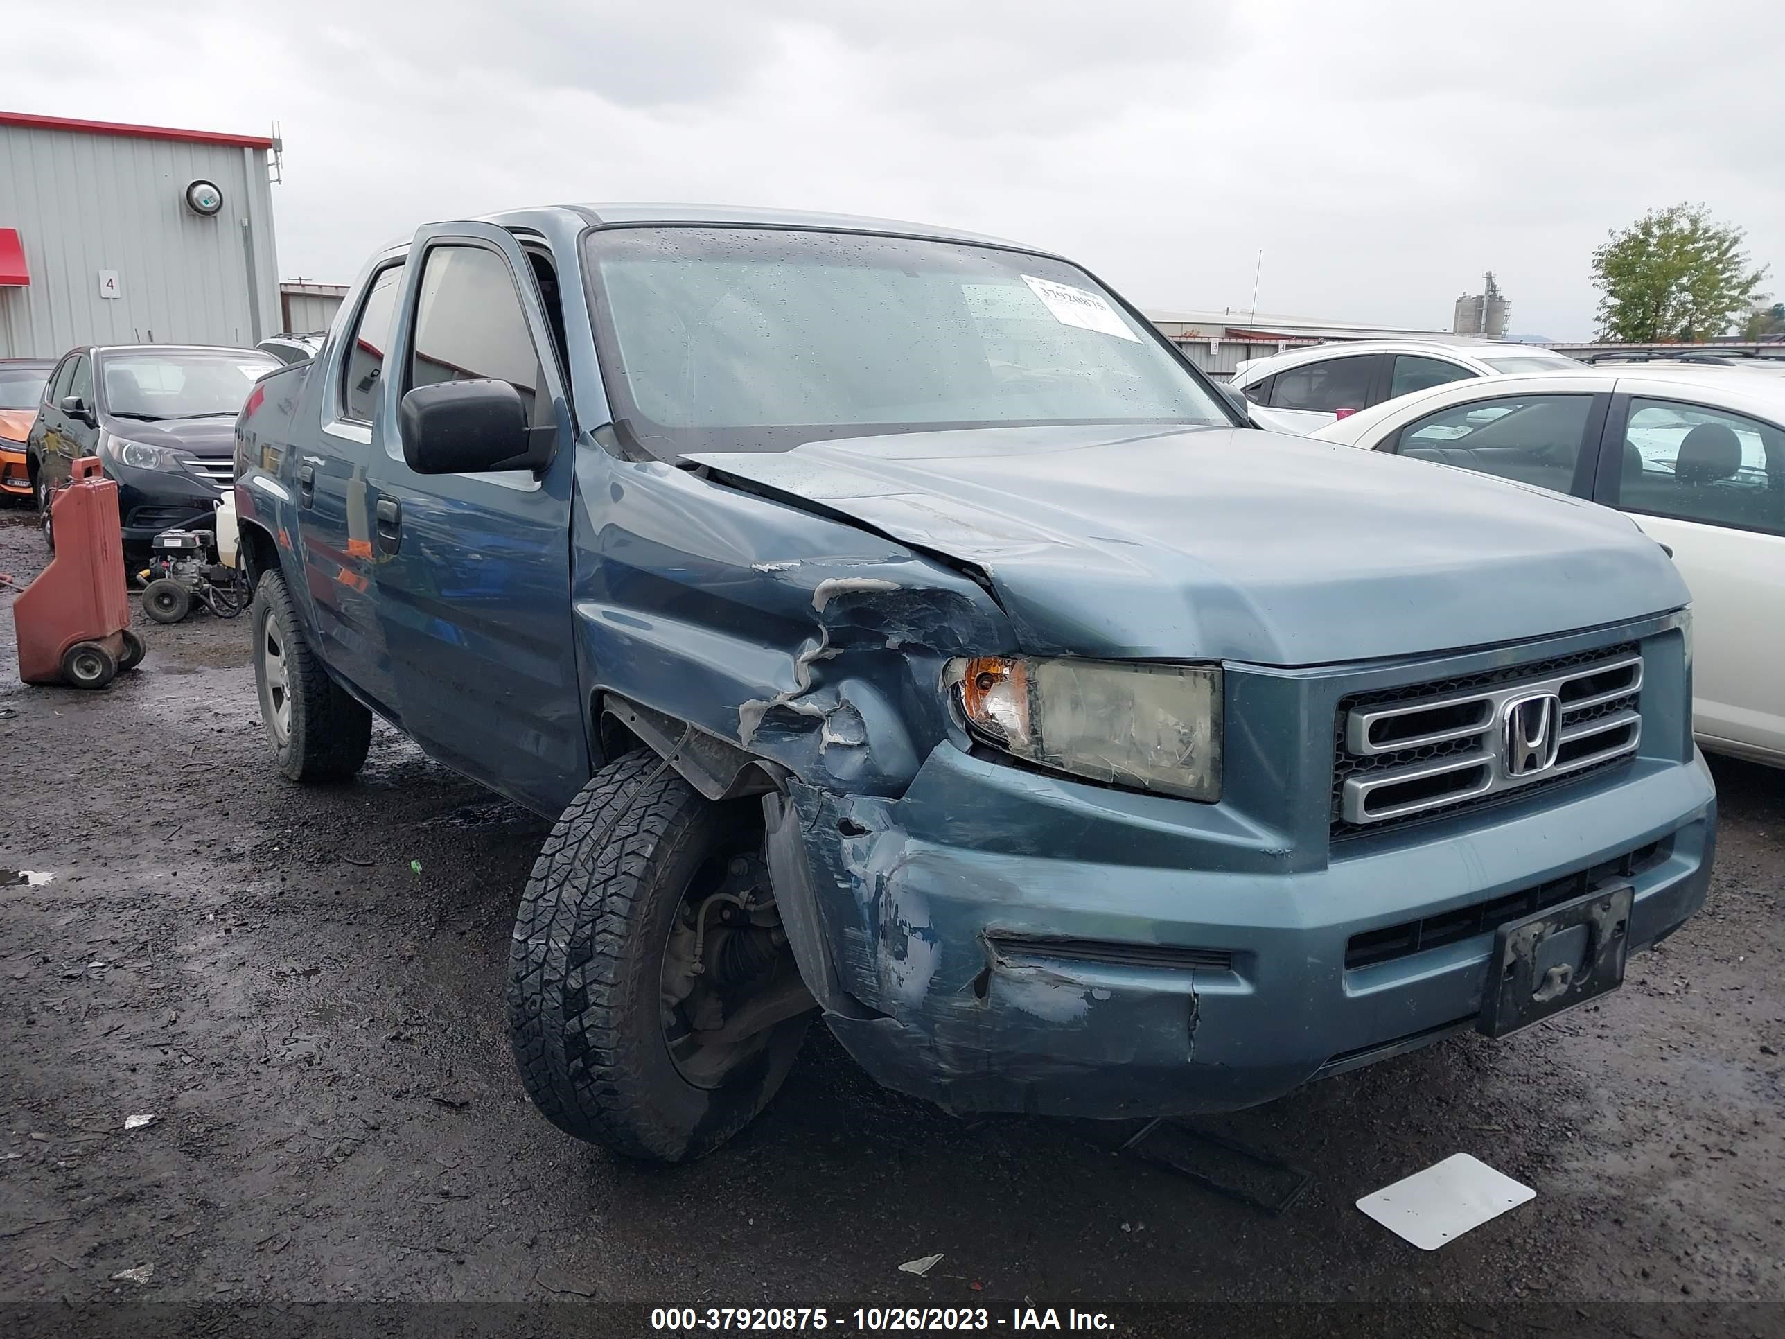
<path id="1" fill-rule="evenodd" d="M 0 571 L 39 561 L 0 511 Z M 1225 1121 L 1314 1175 L 1282 1218 L 1117 1153 L 1126 1127 L 959 1121 L 882 1091 L 821 1030 L 743 1137 L 641 1168 L 548 1127 L 509 1057 L 539 819 L 384 727 L 359 782 L 284 784 L 241 621 L 137 614 L 136 675 L 23 687 L 11 600 L 0 584 L 0 868 L 55 880 L 0 887 L 0 1307 L 37 1328 L 141 1300 L 1034 1298 L 1130 1321 L 1164 1302 L 1785 1302 L 1776 771 L 1714 762 L 1710 905 L 1621 993 Z M 1353 1207 L 1455 1152 L 1537 1200 L 1433 1253 Z M 930 1253 L 926 1277 L 896 1268 Z M 1762 1332 L 1785 1312 L 1733 1314 Z M 1639 1307 L 1614 1332 L 1690 1316 Z"/>

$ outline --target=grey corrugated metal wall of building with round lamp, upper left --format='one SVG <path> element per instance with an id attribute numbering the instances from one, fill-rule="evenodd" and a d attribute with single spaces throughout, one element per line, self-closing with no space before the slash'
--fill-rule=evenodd
<path id="1" fill-rule="evenodd" d="M 203 177 L 223 209 L 182 202 Z M 278 323 L 266 152 L 0 125 L 0 227 L 18 229 L 30 284 L 0 287 L 0 357 L 73 345 L 253 345 Z M 102 270 L 120 296 L 100 296 Z"/>

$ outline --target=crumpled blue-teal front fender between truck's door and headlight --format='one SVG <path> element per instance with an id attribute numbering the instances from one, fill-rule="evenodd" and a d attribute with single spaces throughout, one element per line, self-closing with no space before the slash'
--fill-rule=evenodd
<path id="1" fill-rule="evenodd" d="M 976 582 L 855 525 L 596 450 L 578 489 L 598 753 L 614 694 L 816 789 L 894 796 L 950 728 L 948 659 L 1014 650 Z"/>

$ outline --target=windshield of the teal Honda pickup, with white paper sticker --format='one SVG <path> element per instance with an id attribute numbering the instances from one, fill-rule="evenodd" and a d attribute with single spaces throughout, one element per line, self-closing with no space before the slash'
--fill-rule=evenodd
<path id="1" fill-rule="evenodd" d="M 1060 261 L 771 229 L 607 229 L 587 255 L 614 416 L 653 455 L 1233 423 L 1151 327 Z"/>

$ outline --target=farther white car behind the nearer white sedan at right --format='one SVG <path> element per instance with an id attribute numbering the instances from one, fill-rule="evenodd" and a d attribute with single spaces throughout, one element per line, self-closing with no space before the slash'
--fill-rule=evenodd
<path id="1" fill-rule="evenodd" d="M 1307 434 L 1444 382 L 1582 366 L 1565 353 L 1487 339 L 1358 339 L 1242 362 L 1228 382 L 1260 428 Z"/>

